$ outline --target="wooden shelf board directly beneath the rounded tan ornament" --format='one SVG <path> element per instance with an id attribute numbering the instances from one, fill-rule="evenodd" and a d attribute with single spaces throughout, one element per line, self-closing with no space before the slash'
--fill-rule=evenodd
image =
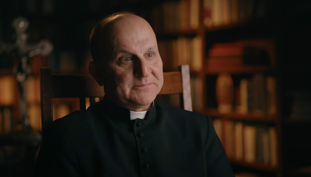
<path id="1" fill-rule="evenodd" d="M 235 121 L 253 121 L 253 122 L 269 122 L 275 123 L 277 121 L 276 116 L 273 115 L 260 115 L 254 113 L 240 114 L 240 113 L 219 113 L 216 108 L 208 108 L 203 111 L 204 114 L 209 117 L 217 118 L 217 117 L 226 117 L 228 120 Z"/>

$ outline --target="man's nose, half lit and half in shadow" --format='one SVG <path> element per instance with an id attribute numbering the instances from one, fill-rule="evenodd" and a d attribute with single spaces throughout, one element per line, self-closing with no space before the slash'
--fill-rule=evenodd
<path id="1" fill-rule="evenodd" d="M 148 77 L 151 74 L 151 64 L 144 58 L 137 58 L 134 66 L 134 75 L 137 77 Z"/>

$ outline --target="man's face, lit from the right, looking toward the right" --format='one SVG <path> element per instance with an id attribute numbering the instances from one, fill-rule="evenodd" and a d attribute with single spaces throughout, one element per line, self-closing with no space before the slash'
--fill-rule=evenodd
<path id="1" fill-rule="evenodd" d="M 123 17 L 111 28 L 110 44 L 112 57 L 104 62 L 103 71 L 106 95 L 132 111 L 149 109 L 163 85 L 163 64 L 152 28 L 140 17 Z"/>

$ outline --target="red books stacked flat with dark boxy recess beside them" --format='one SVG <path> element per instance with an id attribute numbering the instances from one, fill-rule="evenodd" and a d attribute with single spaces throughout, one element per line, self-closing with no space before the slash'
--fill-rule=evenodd
<path id="1" fill-rule="evenodd" d="M 271 39 L 215 43 L 207 51 L 207 54 L 207 70 L 224 70 L 244 66 L 275 66 L 274 41 Z"/>

